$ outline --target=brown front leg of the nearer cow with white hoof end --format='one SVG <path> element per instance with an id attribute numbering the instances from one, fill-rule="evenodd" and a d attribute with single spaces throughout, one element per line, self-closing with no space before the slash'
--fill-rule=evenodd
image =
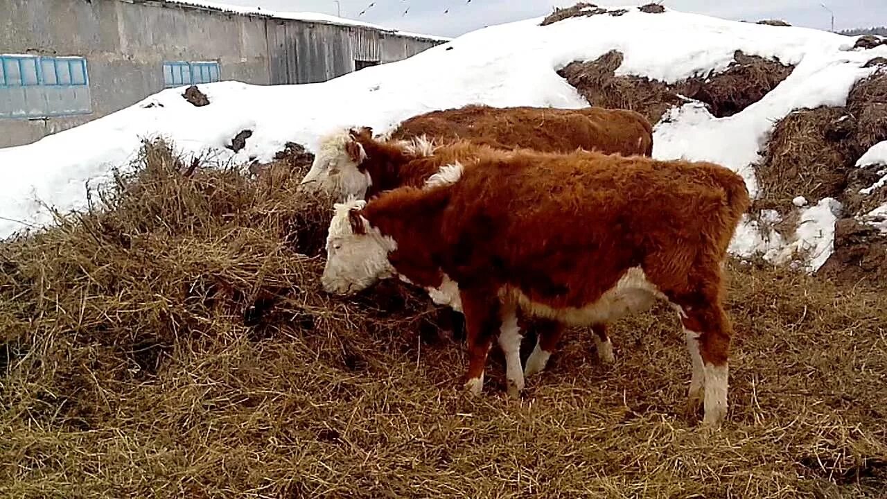
<path id="1" fill-rule="evenodd" d="M 459 293 L 462 298 L 462 312 L 465 314 L 468 349 L 465 387 L 468 392 L 480 395 L 487 353 L 490 352 L 494 331 L 501 324 L 500 306 L 495 293 L 472 289 L 461 289 Z"/>

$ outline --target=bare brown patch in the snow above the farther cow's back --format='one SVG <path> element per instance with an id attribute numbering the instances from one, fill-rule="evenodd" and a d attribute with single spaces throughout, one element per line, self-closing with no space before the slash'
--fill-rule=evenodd
<path id="1" fill-rule="evenodd" d="M 616 76 L 622 61 L 621 52 L 609 51 L 593 61 L 572 62 L 558 74 L 593 106 L 632 109 L 658 123 L 667 110 L 685 101 L 679 95 L 703 101 L 712 115 L 734 115 L 762 99 L 794 68 L 736 51 L 734 62 L 718 75 L 668 84 L 647 77 Z"/>

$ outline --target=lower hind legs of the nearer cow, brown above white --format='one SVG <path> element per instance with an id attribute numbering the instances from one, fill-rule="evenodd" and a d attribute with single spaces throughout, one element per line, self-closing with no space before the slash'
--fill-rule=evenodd
<path id="1" fill-rule="evenodd" d="M 693 363 L 688 390 L 690 408 L 703 401 L 703 425 L 718 427 L 726 416 L 731 325 L 718 294 L 682 303 L 681 322 Z"/>

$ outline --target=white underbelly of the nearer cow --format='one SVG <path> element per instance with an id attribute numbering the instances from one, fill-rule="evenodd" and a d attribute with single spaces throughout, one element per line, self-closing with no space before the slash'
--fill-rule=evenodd
<path id="1" fill-rule="evenodd" d="M 499 290 L 499 297 L 511 300 L 521 309 L 533 315 L 567 322 L 574 326 L 587 326 L 595 322 L 616 321 L 629 313 L 648 310 L 657 298 L 665 299 L 640 267 L 632 267 L 616 281 L 616 285 L 604 292 L 594 303 L 581 308 L 553 308 L 534 302 L 521 289 L 512 286 Z"/>

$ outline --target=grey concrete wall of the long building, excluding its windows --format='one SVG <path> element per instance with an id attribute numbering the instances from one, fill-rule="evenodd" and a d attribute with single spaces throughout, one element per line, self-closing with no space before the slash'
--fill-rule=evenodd
<path id="1" fill-rule="evenodd" d="M 0 54 L 83 56 L 91 113 L 0 118 L 0 147 L 131 106 L 164 87 L 163 61 L 216 60 L 221 79 L 316 83 L 355 59 L 404 59 L 438 42 L 369 28 L 238 15 L 153 0 L 0 0 Z"/>

